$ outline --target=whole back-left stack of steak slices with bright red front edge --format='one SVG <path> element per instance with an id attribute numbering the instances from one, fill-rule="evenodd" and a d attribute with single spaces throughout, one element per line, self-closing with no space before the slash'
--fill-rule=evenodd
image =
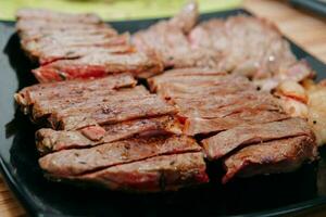
<path id="1" fill-rule="evenodd" d="M 162 71 L 160 61 L 135 50 L 128 34 L 118 35 L 93 14 L 23 9 L 16 15 L 22 47 L 41 65 L 33 71 L 40 82 Z"/>

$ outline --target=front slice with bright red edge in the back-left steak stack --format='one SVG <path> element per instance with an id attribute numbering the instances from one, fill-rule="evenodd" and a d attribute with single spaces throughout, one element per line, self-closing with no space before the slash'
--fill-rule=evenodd
<path id="1" fill-rule="evenodd" d="M 163 71 L 161 62 L 143 53 L 89 53 L 77 60 L 60 60 L 33 71 L 40 82 L 97 78 L 110 74 L 131 73 L 149 77 Z"/>

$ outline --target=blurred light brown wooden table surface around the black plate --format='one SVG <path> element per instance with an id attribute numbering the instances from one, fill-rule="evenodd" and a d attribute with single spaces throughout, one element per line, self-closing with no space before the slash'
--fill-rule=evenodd
<path id="1" fill-rule="evenodd" d="M 326 20 L 312 13 L 294 10 L 286 1 L 244 0 L 243 8 L 273 21 L 280 31 L 326 63 Z M 299 190 L 300 191 L 300 190 Z M 25 216 L 25 210 L 0 178 L 0 216 Z M 304 216 L 326 216 L 319 208 Z"/>

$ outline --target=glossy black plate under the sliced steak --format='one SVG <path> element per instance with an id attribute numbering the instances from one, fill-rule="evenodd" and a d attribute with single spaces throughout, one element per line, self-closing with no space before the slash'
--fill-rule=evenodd
<path id="1" fill-rule="evenodd" d="M 226 17 L 241 10 L 205 14 L 201 18 Z M 135 31 L 156 20 L 117 22 L 120 31 Z M 35 82 L 34 67 L 20 49 L 13 23 L 0 23 L 0 155 L 2 174 L 33 216 L 274 216 L 326 204 L 326 150 L 318 163 L 296 173 L 237 179 L 226 186 L 212 183 L 179 192 L 128 194 L 103 189 L 83 189 L 47 181 L 37 164 L 33 126 L 17 111 L 13 94 Z M 291 43 L 325 77 L 326 66 Z M 214 178 L 213 178 L 214 179 Z"/>

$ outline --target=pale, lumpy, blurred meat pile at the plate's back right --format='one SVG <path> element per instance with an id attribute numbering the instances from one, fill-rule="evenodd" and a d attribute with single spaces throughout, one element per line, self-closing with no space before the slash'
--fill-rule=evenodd
<path id="1" fill-rule="evenodd" d="M 271 23 L 247 15 L 212 18 L 198 25 L 196 3 L 133 36 L 137 49 L 161 56 L 165 68 L 211 67 L 255 80 L 272 90 L 281 80 L 313 75 Z"/>

